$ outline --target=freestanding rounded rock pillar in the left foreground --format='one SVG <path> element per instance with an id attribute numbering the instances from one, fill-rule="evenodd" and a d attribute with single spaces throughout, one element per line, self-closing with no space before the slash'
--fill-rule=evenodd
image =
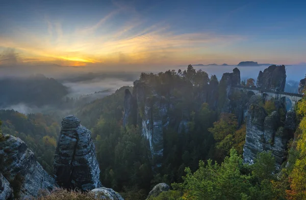
<path id="1" fill-rule="evenodd" d="M 91 132 L 73 115 L 62 121 L 54 158 L 54 174 L 60 187 L 83 191 L 101 187 L 99 164 Z"/>

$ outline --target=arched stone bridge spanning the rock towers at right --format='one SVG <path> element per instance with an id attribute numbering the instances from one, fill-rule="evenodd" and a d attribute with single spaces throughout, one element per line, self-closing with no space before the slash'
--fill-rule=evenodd
<path id="1" fill-rule="evenodd" d="M 237 85 L 233 88 L 236 89 L 241 89 L 243 92 L 245 93 L 251 93 L 251 95 L 253 95 L 252 93 L 254 93 L 255 95 L 260 95 L 262 97 L 264 97 L 266 100 L 270 100 L 271 98 L 274 99 L 282 99 L 282 98 L 288 98 L 290 99 L 292 106 L 291 106 L 291 110 L 294 111 L 295 105 L 296 103 L 302 99 L 303 95 L 301 94 L 296 94 L 296 93 L 288 93 L 288 92 L 279 92 L 279 91 L 272 91 L 272 90 L 262 90 L 260 88 L 255 88 L 255 87 L 245 87 L 245 86 L 240 86 Z"/>

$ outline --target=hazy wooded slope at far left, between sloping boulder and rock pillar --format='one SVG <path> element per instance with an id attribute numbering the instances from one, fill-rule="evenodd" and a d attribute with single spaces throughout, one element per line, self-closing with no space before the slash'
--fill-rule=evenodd
<path id="1" fill-rule="evenodd" d="M 60 132 L 57 120 L 41 113 L 23 115 L 14 110 L 0 110 L 3 133 L 22 139 L 34 152 L 38 162 L 53 173 L 56 140 Z"/>

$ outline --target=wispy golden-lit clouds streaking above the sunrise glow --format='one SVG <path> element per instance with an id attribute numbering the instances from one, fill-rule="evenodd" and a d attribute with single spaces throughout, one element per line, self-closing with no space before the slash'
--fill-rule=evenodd
<path id="1" fill-rule="evenodd" d="M 44 19 L 45 27 L 41 27 L 45 35 L 16 27 L 15 35 L 0 35 L 0 47 L 16 49 L 17 62 L 45 61 L 81 66 L 91 63 L 178 64 L 196 60 L 199 53 L 211 56 L 212 46 L 224 47 L 245 40 L 239 35 L 176 33 L 167 20 L 152 23 L 130 5 L 113 3 L 115 10 L 88 26 L 75 24 L 72 32 L 65 30 L 65 24 L 49 18 Z M 123 25 L 114 26 L 116 16 L 123 11 L 128 13 Z M 100 27 L 106 25 L 114 28 L 99 32 Z M 198 58 L 202 59 L 202 55 Z"/>

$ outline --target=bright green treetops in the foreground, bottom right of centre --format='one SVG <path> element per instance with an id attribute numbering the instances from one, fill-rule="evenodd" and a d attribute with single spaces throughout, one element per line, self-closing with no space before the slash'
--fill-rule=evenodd
<path id="1" fill-rule="evenodd" d="M 271 153 L 259 154 L 252 166 L 243 164 L 241 156 L 232 149 L 230 157 L 225 157 L 220 165 L 212 160 L 200 161 L 195 173 L 187 167 L 183 183 L 172 184 L 175 190 L 152 199 L 285 199 L 275 184 L 274 164 Z"/>

